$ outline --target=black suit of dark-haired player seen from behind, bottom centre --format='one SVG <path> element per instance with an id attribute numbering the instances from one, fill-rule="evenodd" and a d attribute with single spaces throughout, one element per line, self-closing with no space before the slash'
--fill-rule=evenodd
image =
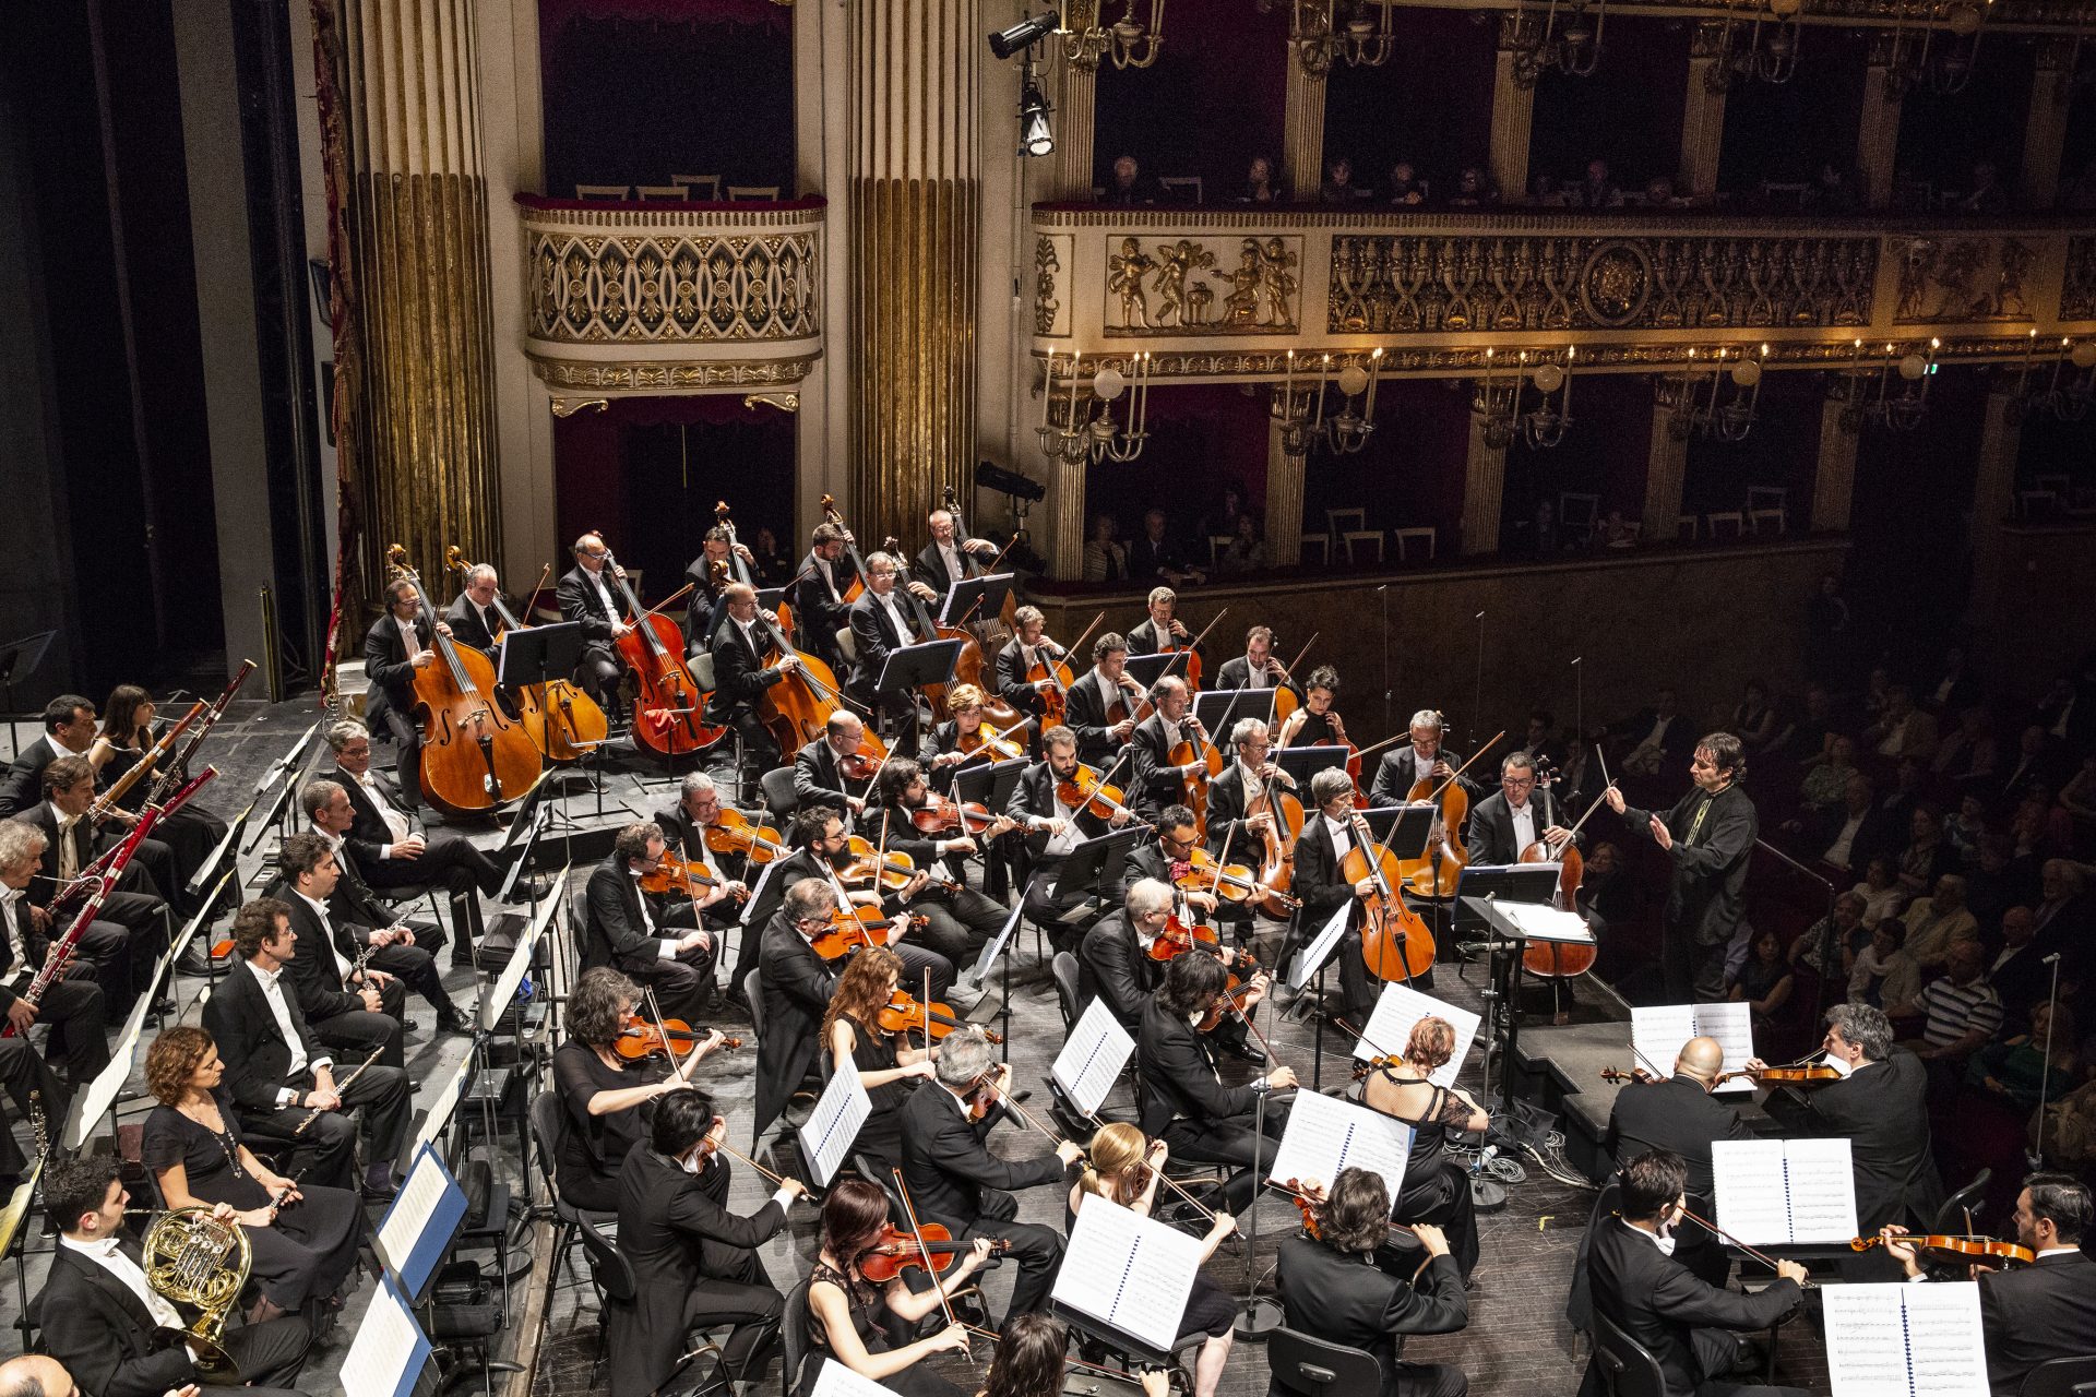
<path id="1" fill-rule="evenodd" d="M 1463 1397 L 1469 1380 L 1461 1368 L 1398 1359 L 1400 1334 L 1455 1334 L 1469 1324 L 1455 1263 L 1436 1257 L 1406 1280 L 1413 1265 L 1388 1250 L 1360 1257 L 1302 1234 L 1283 1238 L 1274 1278 L 1281 1309 L 1291 1330 L 1373 1353 L 1383 1370 L 1379 1397 Z M 1268 1397 L 1285 1393 L 1279 1382 L 1268 1387 Z"/>

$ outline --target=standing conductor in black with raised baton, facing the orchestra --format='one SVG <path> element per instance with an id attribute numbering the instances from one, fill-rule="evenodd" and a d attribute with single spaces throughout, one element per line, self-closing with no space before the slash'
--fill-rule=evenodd
<path id="1" fill-rule="evenodd" d="M 1624 804 L 1606 792 L 1608 808 L 1622 815 L 1673 863 L 1666 890 L 1664 970 L 1675 1003 L 1694 995 L 1702 1003 L 1725 997 L 1725 951 L 1746 917 L 1746 869 L 1754 857 L 1759 819 L 1740 781 L 1746 750 L 1731 733 L 1710 733 L 1689 762 L 1694 790 L 1666 815 Z"/>

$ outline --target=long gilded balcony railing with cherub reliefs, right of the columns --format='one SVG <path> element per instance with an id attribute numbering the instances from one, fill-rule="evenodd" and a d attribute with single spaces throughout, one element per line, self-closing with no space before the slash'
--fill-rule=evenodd
<path id="1" fill-rule="evenodd" d="M 1580 346 L 1595 369 L 1769 346 L 1844 364 L 1939 339 L 2021 360 L 2096 335 L 2083 218 L 1731 218 L 1557 212 L 1033 209 L 1033 348 L 1159 379 L 1270 379 L 1383 350 L 1385 373 L 1476 371 L 1488 348 Z"/>

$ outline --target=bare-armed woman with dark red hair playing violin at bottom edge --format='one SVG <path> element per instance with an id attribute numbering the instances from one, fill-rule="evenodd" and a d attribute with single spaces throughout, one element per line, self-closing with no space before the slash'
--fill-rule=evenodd
<path id="1" fill-rule="evenodd" d="M 962 1397 L 962 1389 L 920 1363 L 935 1353 L 966 1351 L 968 1326 L 947 1324 L 916 1340 L 910 1334 L 941 1309 L 941 1292 L 952 1296 L 968 1284 L 991 1246 L 979 1238 L 958 1252 L 939 1273 L 937 1290 L 912 1290 L 901 1271 L 876 1284 L 859 1267 L 887 1227 L 889 1196 L 870 1179 L 838 1179 L 822 1200 L 822 1250 L 807 1278 L 811 1343 L 801 1372 L 786 1374 L 788 1393 L 811 1393 L 824 1357 L 832 1357 L 899 1397 Z"/>

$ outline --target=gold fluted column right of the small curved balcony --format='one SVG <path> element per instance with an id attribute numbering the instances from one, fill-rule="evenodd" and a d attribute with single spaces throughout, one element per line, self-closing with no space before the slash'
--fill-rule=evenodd
<path id="1" fill-rule="evenodd" d="M 975 454 L 979 10 L 849 0 L 851 519 L 912 551 Z"/>

